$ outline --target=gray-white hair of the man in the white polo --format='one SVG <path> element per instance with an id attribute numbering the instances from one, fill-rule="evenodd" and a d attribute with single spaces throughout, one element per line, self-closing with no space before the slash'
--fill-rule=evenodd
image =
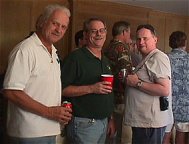
<path id="1" fill-rule="evenodd" d="M 70 10 L 63 6 L 63 5 L 58 5 L 58 4 L 53 4 L 53 5 L 48 5 L 47 7 L 45 7 L 43 13 L 38 17 L 37 21 L 36 21 L 36 30 L 40 30 L 41 29 L 41 25 L 46 22 L 50 16 L 52 15 L 52 13 L 56 10 L 62 10 L 66 13 L 66 15 L 68 17 L 71 16 Z"/>

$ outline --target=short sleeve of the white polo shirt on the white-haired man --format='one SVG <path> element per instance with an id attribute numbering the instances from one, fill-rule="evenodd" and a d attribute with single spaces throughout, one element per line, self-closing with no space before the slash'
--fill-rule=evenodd
<path id="1" fill-rule="evenodd" d="M 31 75 L 32 56 L 28 49 L 17 47 L 9 56 L 4 89 L 23 90 Z"/>

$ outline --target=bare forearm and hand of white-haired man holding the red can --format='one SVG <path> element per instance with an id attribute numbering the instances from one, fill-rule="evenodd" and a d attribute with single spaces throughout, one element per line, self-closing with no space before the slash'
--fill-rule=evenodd
<path id="1" fill-rule="evenodd" d="M 70 108 L 62 106 L 45 106 L 32 99 L 21 90 L 4 90 L 3 93 L 12 103 L 30 113 L 64 124 L 67 124 L 68 121 L 71 120 L 72 110 Z"/>

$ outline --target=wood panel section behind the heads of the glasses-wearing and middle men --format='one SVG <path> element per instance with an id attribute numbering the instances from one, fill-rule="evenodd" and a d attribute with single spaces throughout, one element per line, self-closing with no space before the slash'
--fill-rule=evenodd
<path id="1" fill-rule="evenodd" d="M 151 9 L 123 5 L 112 2 L 94 0 L 73 0 L 72 49 L 74 49 L 74 34 L 82 29 L 83 22 L 89 17 L 100 17 L 107 23 L 108 35 L 104 47 L 112 39 L 111 29 L 114 22 L 126 20 L 131 24 L 131 31 L 135 34 L 136 26 L 147 23 Z"/>

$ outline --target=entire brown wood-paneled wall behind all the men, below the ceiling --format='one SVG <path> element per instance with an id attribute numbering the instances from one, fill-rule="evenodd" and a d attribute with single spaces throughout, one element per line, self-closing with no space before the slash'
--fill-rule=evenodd
<path id="1" fill-rule="evenodd" d="M 168 40 L 173 31 L 189 33 L 189 17 L 150 8 L 99 0 L 0 0 L 0 73 L 6 69 L 10 51 L 35 30 L 38 15 L 50 3 L 64 4 L 71 10 L 69 28 L 64 38 L 55 44 L 61 58 L 75 48 L 75 33 L 82 29 L 84 20 L 93 16 L 101 17 L 107 23 L 108 34 L 104 47 L 112 39 L 111 29 L 118 20 L 126 20 L 131 24 L 132 35 L 135 35 L 139 24 L 152 24 L 157 31 L 158 48 L 165 52 L 170 51 Z"/>

